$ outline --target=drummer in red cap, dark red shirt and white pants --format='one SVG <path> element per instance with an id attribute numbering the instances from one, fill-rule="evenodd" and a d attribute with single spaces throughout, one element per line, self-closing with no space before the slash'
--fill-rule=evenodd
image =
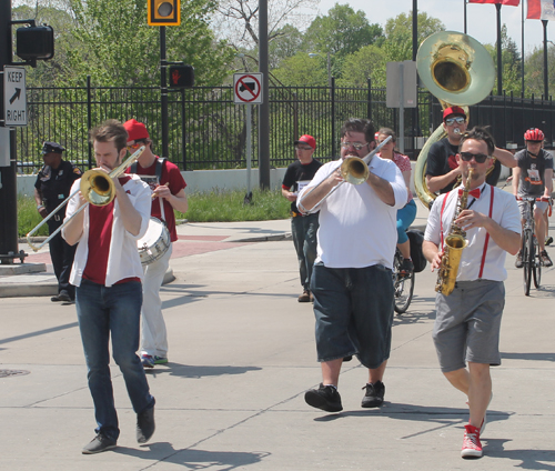
<path id="1" fill-rule="evenodd" d="M 175 231 L 175 214 L 173 210 L 186 212 L 186 183 L 178 166 L 160 159 L 152 152 L 152 140 L 147 127 L 134 119 L 123 123 L 128 131 L 128 150 L 134 152 L 141 146 L 147 149 L 133 164 L 129 173 L 138 173 L 148 181 L 152 189 L 151 217 L 162 220 L 170 231 L 171 241 L 178 240 Z M 168 363 L 168 337 L 164 318 L 162 315 L 162 300 L 160 287 L 170 265 L 172 247 L 157 261 L 143 265 L 143 303 L 142 303 L 142 333 L 141 361 L 144 368 L 154 368 L 154 364 Z"/>

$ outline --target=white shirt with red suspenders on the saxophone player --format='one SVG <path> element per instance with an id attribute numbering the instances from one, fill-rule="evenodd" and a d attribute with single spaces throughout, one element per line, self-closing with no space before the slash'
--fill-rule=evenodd
<path id="1" fill-rule="evenodd" d="M 424 240 L 435 243 L 440 250 L 450 234 L 457 200 L 456 190 L 441 194 L 430 211 Z M 473 211 L 491 217 L 504 229 L 517 233 L 522 231 L 518 204 L 512 193 L 486 184 L 480 199 L 468 197 L 467 206 L 471 206 L 470 209 Z M 463 250 L 457 281 L 472 281 L 480 278 L 503 281 L 507 278 L 505 270 L 507 252 L 494 242 L 484 228 L 467 230 L 466 240 L 468 245 Z"/>

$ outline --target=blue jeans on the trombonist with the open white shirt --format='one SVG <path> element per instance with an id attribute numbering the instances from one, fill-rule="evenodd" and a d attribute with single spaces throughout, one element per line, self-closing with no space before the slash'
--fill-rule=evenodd
<path id="1" fill-rule="evenodd" d="M 139 349 L 142 288 L 140 282 L 114 284 L 107 288 L 82 280 L 75 290 L 77 315 L 89 369 L 89 389 L 94 402 L 97 433 L 118 440 L 118 414 L 113 402 L 110 378 L 109 340 L 120 367 L 135 413 L 154 407 Z"/>

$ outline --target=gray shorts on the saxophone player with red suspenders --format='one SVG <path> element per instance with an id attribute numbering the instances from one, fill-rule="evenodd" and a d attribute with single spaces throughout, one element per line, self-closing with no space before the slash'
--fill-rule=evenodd
<path id="1" fill-rule="evenodd" d="M 466 361 L 501 364 L 504 305 L 503 281 L 461 281 L 448 297 L 436 295 L 433 338 L 442 372 L 465 368 Z"/>

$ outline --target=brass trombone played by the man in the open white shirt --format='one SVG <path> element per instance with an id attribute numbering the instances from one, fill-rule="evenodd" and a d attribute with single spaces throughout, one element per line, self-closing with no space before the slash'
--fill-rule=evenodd
<path id="1" fill-rule="evenodd" d="M 93 206 L 107 206 L 110 204 L 115 198 L 115 187 L 113 184 L 112 179 L 121 176 L 128 167 L 133 164 L 139 160 L 141 154 L 144 151 L 145 146 L 140 147 L 133 154 L 131 154 L 120 167 L 113 169 L 110 173 L 107 173 L 102 170 L 91 169 L 85 171 L 81 177 L 81 184 L 79 186 L 79 190 L 73 191 L 68 198 L 65 198 L 50 214 L 48 214 L 36 228 L 33 228 L 27 234 L 27 243 L 29 247 L 38 252 L 42 249 L 48 242 L 52 240 L 52 238 L 60 232 L 64 226 L 71 221 L 77 214 L 79 214 L 84 208 L 89 206 L 89 203 Z M 85 204 L 82 204 L 67 221 L 63 221 L 54 232 L 52 232 L 43 242 L 39 245 L 36 245 L 31 238 L 32 236 L 50 219 L 52 218 L 63 206 L 68 204 L 68 202 L 73 198 L 77 193 L 81 191 L 81 194 L 87 200 Z"/>

